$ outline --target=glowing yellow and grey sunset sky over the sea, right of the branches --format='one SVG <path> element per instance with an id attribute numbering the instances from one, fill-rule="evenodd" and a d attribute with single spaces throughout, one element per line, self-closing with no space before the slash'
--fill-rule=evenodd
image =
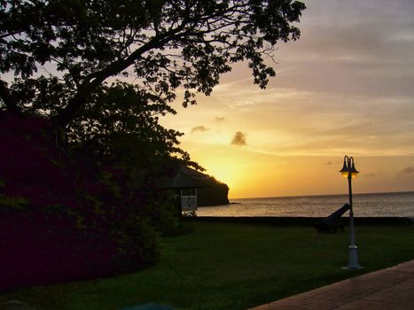
<path id="1" fill-rule="evenodd" d="M 162 123 L 230 198 L 414 190 L 414 2 L 309 0 L 265 90 L 246 64 Z"/>

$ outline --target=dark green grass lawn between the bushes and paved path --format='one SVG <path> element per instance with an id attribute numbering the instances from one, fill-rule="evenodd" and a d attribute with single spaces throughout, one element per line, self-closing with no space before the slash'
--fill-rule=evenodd
<path id="1" fill-rule="evenodd" d="M 356 226 L 362 270 L 349 271 L 349 229 L 188 222 L 190 235 L 162 238 L 150 269 L 81 283 L 35 286 L 0 295 L 41 309 L 105 310 L 147 302 L 177 309 L 246 309 L 414 259 L 414 227 Z M 357 225 L 357 223 L 356 223 Z"/>

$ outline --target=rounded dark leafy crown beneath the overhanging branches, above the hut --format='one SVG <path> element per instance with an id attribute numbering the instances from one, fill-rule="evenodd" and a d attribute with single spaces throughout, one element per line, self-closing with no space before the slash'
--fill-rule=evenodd
<path id="1" fill-rule="evenodd" d="M 118 81 L 103 86 L 85 105 L 68 127 L 68 141 L 74 151 L 105 156 L 121 167 L 160 166 L 157 161 L 175 154 L 188 161 L 190 156 L 177 147 L 183 134 L 159 123 L 159 114 L 169 110 L 151 102 L 137 86 Z"/>

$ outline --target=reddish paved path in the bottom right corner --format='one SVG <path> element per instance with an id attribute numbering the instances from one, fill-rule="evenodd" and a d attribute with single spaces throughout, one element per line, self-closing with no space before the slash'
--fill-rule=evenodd
<path id="1" fill-rule="evenodd" d="M 412 310 L 414 260 L 359 275 L 251 310 Z"/>

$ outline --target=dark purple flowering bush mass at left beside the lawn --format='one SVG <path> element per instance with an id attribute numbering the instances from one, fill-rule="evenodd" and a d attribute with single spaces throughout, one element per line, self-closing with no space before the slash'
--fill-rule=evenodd
<path id="1" fill-rule="evenodd" d="M 0 113 L 0 291 L 119 274 L 159 257 L 161 228 L 148 215 L 157 199 L 103 161 L 62 157 L 51 127 Z"/>

